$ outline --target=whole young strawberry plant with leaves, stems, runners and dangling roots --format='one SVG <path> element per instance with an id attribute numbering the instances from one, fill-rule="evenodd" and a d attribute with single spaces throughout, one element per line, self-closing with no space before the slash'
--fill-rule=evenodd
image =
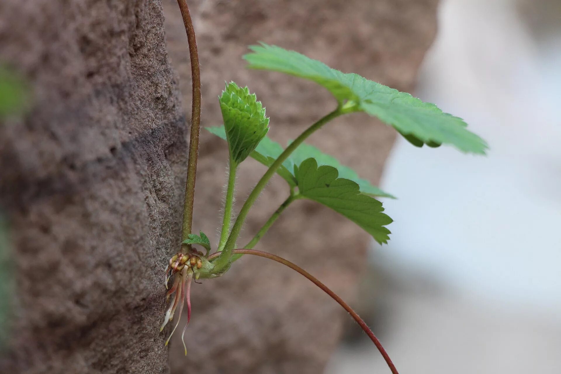
<path id="1" fill-rule="evenodd" d="M 342 73 L 292 50 L 267 44 L 253 45 L 250 47 L 251 52 L 243 56 L 248 62 L 249 68 L 281 72 L 314 81 L 324 86 L 334 96 L 337 104 L 334 105 L 332 112 L 311 124 L 286 148 L 283 148 L 266 136 L 269 132 L 269 118 L 265 116 L 265 108 L 260 101 L 257 101 L 255 94 L 251 94 L 247 87 L 241 87 L 234 82 L 226 85 L 222 95 L 219 96 L 224 124 L 207 129 L 210 133 L 226 140 L 229 150 L 229 174 L 224 216 L 218 246 L 213 252 L 210 241 L 203 232 L 200 232 L 199 235 L 191 233 L 200 132 L 200 72 L 195 33 L 187 4 L 185 0 L 178 0 L 178 4 L 185 22 L 190 49 L 193 105 L 183 213 L 183 237 L 180 251 L 170 258 L 165 270 L 166 287 L 172 276 L 174 279 L 167 293 L 167 298 L 171 298 L 171 302 L 165 313 L 162 329 L 173 319 L 179 306 L 177 323 L 171 333 L 173 334 L 179 325 L 185 301 L 187 302 L 187 324 L 190 321 L 190 289 L 191 281 L 194 278 L 209 279 L 222 276 L 242 255 L 257 255 L 291 267 L 333 297 L 369 335 L 388 363 L 390 370 L 397 373 L 396 367 L 379 340 L 357 313 L 341 298 L 292 262 L 272 253 L 252 248 L 292 202 L 304 198 L 328 206 L 363 228 L 376 242 L 387 243 L 390 231 L 386 226 L 392 223 L 392 219 L 383 213 L 384 208 L 375 197 L 392 196 L 371 185 L 365 179 L 359 178 L 352 169 L 344 167 L 332 156 L 326 155 L 304 142 L 306 138 L 334 118 L 355 112 L 365 112 L 394 127 L 403 137 L 418 147 L 425 144 L 429 147 L 447 144 L 464 153 L 485 154 L 487 149 L 485 141 L 468 131 L 466 123 L 461 118 L 443 113 L 436 105 L 424 103 L 410 94 L 399 92 L 353 73 Z M 259 161 L 267 169 L 246 201 L 243 202 L 240 213 L 231 227 L 236 171 L 248 157 Z M 254 238 L 245 246 L 238 247 L 236 242 L 251 207 L 275 173 L 278 173 L 287 183 L 287 198 L 263 224 L 263 227 L 255 233 Z M 205 253 L 195 250 L 194 246 L 204 248 Z M 183 334 L 185 334 L 186 327 L 187 325 L 183 328 Z M 169 338 L 165 344 L 168 342 Z M 185 348 L 185 343 L 183 343 L 183 347 Z M 185 354 L 187 354 L 186 348 Z"/>

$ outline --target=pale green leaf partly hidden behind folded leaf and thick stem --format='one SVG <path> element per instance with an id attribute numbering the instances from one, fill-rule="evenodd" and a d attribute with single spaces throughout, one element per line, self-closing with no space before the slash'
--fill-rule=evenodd
<path id="1" fill-rule="evenodd" d="M 226 140 L 226 131 L 224 130 L 224 126 L 206 127 L 206 130 Z M 282 153 L 282 151 L 283 147 L 280 146 L 280 144 L 271 140 L 268 136 L 265 136 L 250 156 L 266 167 L 269 167 Z M 295 166 L 299 166 L 302 161 L 310 157 L 315 158 L 320 165 L 330 165 L 336 168 L 340 177 L 351 179 L 351 181 L 358 183 L 361 193 L 371 196 L 395 198 L 389 193 L 380 190 L 380 188 L 373 186 L 373 184 L 366 179 L 358 177 L 358 174 L 354 170 L 341 165 L 341 163 L 339 163 L 339 161 L 334 157 L 327 155 L 316 147 L 308 144 L 301 144 L 298 146 L 296 150 L 288 156 L 288 159 L 284 161 L 281 167 L 277 170 L 277 173 L 285 181 L 287 181 L 291 187 L 296 187 L 297 181 L 293 170 Z"/>

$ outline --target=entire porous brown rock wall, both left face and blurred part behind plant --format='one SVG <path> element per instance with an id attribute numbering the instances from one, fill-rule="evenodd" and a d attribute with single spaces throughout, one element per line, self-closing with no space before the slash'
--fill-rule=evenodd
<path id="1" fill-rule="evenodd" d="M 185 109 L 159 1 L 0 2 L 0 59 L 27 77 L 34 95 L 24 119 L 0 125 L 0 206 L 16 274 L 2 373 L 169 371 L 159 333 L 162 270 L 180 237 L 190 67 L 177 4 L 163 2 Z M 270 136 L 282 142 L 334 101 L 310 82 L 243 70 L 246 45 L 297 49 L 411 90 L 435 32 L 436 0 L 190 3 L 203 125 L 220 123 L 217 96 L 234 80 L 257 93 Z M 393 139 L 393 130 L 354 114 L 310 142 L 377 182 Z M 203 133 L 194 229 L 214 245 L 226 159 L 224 142 Z M 242 165 L 240 201 L 263 172 L 254 161 Z M 286 197 L 283 183 L 268 186 L 240 243 Z M 351 300 L 368 243 L 355 225 L 298 201 L 257 249 L 297 262 Z M 222 278 L 194 285 L 192 302 L 189 357 L 172 341 L 173 373 L 319 373 L 346 318 L 300 275 L 249 256 Z"/>

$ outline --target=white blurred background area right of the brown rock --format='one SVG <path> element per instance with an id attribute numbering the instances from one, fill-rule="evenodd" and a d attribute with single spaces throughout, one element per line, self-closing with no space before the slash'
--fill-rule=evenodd
<path id="1" fill-rule="evenodd" d="M 416 95 L 491 149 L 394 147 L 381 340 L 402 374 L 561 373 L 561 0 L 444 0 Z M 326 372 L 389 370 L 361 340 Z"/>

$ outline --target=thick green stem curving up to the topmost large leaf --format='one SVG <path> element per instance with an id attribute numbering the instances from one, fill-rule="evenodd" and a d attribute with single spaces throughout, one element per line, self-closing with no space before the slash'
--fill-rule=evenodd
<path id="1" fill-rule="evenodd" d="M 341 116 L 344 114 L 344 110 L 341 108 L 335 109 L 333 112 L 327 114 L 327 116 L 319 119 L 318 122 L 312 124 L 312 126 L 308 127 L 306 131 L 302 132 L 300 136 L 298 136 L 288 147 L 283 151 L 283 153 L 278 156 L 278 158 L 274 161 L 274 163 L 267 169 L 263 177 L 259 179 L 259 182 L 255 185 L 253 191 L 251 191 L 250 195 L 247 197 L 245 203 L 243 203 L 242 209 L 240 210 L 240 214 L 238 214 L 236 218 L 236 222 L 232 227 L 232 231 L 228 236 L 228 240 L 226 241 L 226 245 L 224 246 L 224 250 L 220 253 L 219 258 L 214 261 L 215 264 L 215 271 L 219 272 L 224 269 L 231 261 L 232 250 L 234 246 L 236 246 L 236 240 L 240 235 L 240 230 L 242 229 L 243 223 L 246 219 L 247 213 L 251 206 L 254 204 L 257 197 L 260 195 L 263 188 L 265 188 L 266 184 L 269 182 L 269 179 L 273 177 L 273 175 L 277 172 L 277 169 L 282 165 L 284 160 L 288 158 L 288 156 L 298 147 L 307 137 L 309 137 L 312 133 L 316 130 L 319 130 L 325 123 L 331 121 L 333 118 Z"/>

